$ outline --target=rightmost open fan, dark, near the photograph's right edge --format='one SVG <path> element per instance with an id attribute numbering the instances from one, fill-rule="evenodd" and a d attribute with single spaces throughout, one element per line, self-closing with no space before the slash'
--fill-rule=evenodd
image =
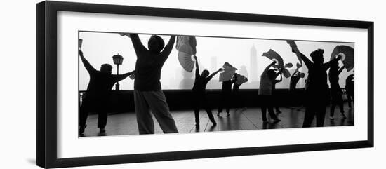
<path id="1" fill-rule="evenodd" d="M 342 56 L 340 60 L 342 60 L 343 65 L 345 65 L 347 72 L 354 68 L 354 48 L 338 45 L 334 48 L 333 53 L 331 53 L 331 60 L 338 55 Z"/>

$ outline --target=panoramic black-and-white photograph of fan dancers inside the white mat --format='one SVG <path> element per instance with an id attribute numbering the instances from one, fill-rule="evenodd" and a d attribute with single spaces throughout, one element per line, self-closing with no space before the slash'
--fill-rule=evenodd
<path id="1" fill-rule="evenodd" d="M 353 42 L 79 31 L 79 137 L 354 126 Z"/>

